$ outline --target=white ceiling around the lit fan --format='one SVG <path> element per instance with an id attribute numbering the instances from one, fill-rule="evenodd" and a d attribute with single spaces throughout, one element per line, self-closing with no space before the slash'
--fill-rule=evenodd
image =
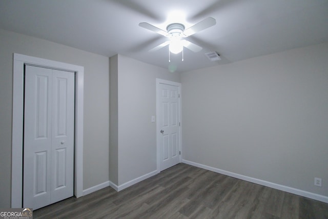
<path id="1" fill-rule="evenodd" d="M 169 21 L 169 14 L 179 17 Z M 214 17 L 216 25 L 187 39 L 203 50 L 171 55 L 168 47 L 149 49 L 164 36 L 138 26 L 161 29 L 173 22 L 186 28 Z M 255 56 L 328 42 L 327 0 L 0 0 L 0 28 L 111 57 L 189 71 Z M 204 53 L 222 60 L 210 62 Z M 170 65 L 170 66 L 169 66 Z"/>

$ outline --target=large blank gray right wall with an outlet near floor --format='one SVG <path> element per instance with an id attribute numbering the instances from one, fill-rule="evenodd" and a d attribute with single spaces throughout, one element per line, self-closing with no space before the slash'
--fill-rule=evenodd
<path id="1" fill-rule="evenodd" d="M 181 83 L 183 159 L 328 196 L 328 44 L 185 72 Z"/>

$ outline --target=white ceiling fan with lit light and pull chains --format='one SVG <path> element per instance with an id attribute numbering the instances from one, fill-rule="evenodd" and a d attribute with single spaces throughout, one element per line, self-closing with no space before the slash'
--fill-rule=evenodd
<path id="1" fill-rule="evenodd" d="M 199 31 L 212 27 L 215 24 L 216 24 L 215 19 L 213 17 L 208 17 L 206 19 L 203 19 L 201 22 L 198 22 L 197 24 L 191 26 L 188 29 L 185 29 L 185 25 L 180 23 L 169 24 L 166 28 L 167 31 L 162 30 L 146 22 L 140 23 L 139 26 L 169 38 L 168 41 L 149 50 L 150 52 L 159 50 L 169 45 L 169 51 L 177 54 L 181 51 L 183 52 L 183 47 L 186 47 L 193 52 L 199 52 L 202 49 L 200 46 L 191 43 L 186 39 L 181 39 L 181 38 L 186 38 L 188 36 L 191 36 Z M 183 61 L 183 57 L 182 57 L 182 61 Z"/>

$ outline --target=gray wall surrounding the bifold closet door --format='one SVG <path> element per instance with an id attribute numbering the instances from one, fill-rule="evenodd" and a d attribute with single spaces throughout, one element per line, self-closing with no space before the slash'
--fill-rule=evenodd
<path id="1" fill-rule="evenodd" d="M 11 200 L 13 53 L 84 66 L 84 189 L 107 182 L 109 58 L 0 29 L 0 207 Z"/>

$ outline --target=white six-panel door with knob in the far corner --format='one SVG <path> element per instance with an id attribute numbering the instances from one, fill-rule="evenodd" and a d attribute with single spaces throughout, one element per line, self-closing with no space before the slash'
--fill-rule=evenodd
<path id="1" fill-rule="evenodd" d="M 180 163 L 180 86 L 157 83 L 159 170 Z"/>

